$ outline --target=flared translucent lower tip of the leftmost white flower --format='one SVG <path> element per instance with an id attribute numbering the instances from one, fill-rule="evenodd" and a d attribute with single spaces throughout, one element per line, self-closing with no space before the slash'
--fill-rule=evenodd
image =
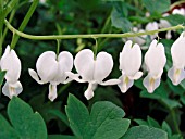
<path id="1" fill-rule="evenodd" d="M 2 87 L 2 93 L 10 99 L 12 99 L 13 96 L 18 96 L 23 91 L 22 84 L 20 81 L 16 81 L 14 84 L 9 84 L 8 81 Z"/>

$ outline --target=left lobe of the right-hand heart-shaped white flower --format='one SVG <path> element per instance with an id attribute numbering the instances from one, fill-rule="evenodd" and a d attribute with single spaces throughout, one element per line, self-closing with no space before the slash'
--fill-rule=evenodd
<path id="1" fill-rule="evenodd" d="M 77 73 L 82 76 L 84 80 L 90 81 L 94 77 L 94 52 L 89 49 L 84 49 L 79 51 L 74 60 L 74 65 Z"/>

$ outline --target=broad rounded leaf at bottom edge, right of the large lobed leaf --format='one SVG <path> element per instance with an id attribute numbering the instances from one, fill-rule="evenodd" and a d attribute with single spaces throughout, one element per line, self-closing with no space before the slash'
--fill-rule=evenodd
<path id="1" fill-rule="evenodd" d="M 128 129 L 121 139 L 168 139 L 168 135 L 161 129 L 141 125 Z"/>

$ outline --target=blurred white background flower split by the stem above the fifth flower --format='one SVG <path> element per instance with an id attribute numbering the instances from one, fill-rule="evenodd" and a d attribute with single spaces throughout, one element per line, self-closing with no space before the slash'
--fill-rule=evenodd
<path id="1" fill-rule="evenodd" d="M 146 25 L 146 28 L 145 28 L 145 29 L 148 30 L 148 31 L 150 31 L 150 30 L 157 30 L 157 29 L 159 29 L 159 25 L 158 25 L 157 22 L 151 22 L 151 23 L 148 23 L 148 24 Z M 157 37 L 157 35 L 158 35 L 158 34 L 150 35 L 151 40 L 155 39 L 155 38 Z"/>

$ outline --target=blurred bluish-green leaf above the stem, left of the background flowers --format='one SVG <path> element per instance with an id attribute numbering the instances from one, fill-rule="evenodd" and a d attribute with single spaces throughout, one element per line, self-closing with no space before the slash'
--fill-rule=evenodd
<path id="1" fill-rule="evenodd" d="M 111 13 L 112 26 L 121 29 L 123 33 L 131 31 L 132 23 L 124 17 L 115 8 Z"/>

